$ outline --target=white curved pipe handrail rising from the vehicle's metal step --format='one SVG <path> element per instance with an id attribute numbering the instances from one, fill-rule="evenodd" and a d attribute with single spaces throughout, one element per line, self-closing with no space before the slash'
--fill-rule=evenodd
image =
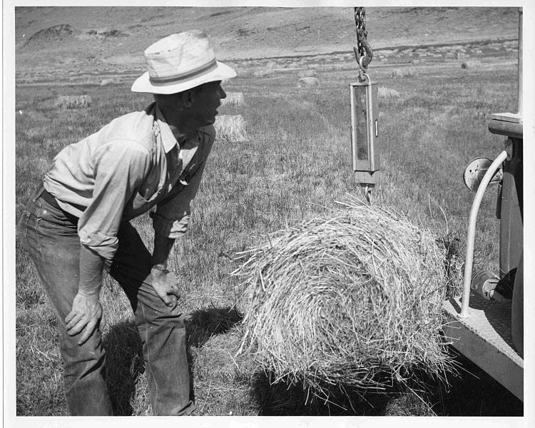
<path id="1" fill-rule="evenodd" d="M 470 218 L 468 221 L 468 233 L 467 233 L 467 255 L 464 258 L 464 282 L 462 285 L 462 304 L 461 304 L 461 313 L 459 318 L 468 317 L 468 303 L 470 300 L 470 282 L 472 282 L 472 265 L 474 264 L 474 238 L 476 235 L 476 220 L 477 213 L 479 212 L 479 205 L 481 205 L 481 200 L 487 186 L 490 183 L 491 178 L 496 173 L 502 163 L 507 158 L 507 152 L 502 151 L 494 162 L 491 163 L 489 169 L 486 170 L 479 188 L 477 188 L 476 197 L 472 203 L 472 210 L 470 211 Z"/>

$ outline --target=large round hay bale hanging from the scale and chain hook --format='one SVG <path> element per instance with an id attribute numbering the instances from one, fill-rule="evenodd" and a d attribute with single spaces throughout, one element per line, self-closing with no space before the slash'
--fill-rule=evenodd
<path id="1" fill-rule="evenodd" d="M 396 213 L 353 201 L 241 257 L 240 352 L 277 380 L 327 397 L 333 385 L 382 389 L 453 370 L 440 335 L 443 248 Z"/>

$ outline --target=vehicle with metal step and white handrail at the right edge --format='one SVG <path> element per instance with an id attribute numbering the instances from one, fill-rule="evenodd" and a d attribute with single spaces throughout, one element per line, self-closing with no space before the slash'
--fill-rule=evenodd
<path id="1" fill-rule="evenodd" d="M 477 190 L 472 204 L 464 263 L 462 296 L 444 302 L 444 335 L 459 352 L 524 401 L 524 269 L 522 188 L 522 10 L 519 9 L 518 113 L 487 117 L 489 131 L 506 136 L 506 147 L 494 161 L 469 163 L 464 181 Z M 499 185 L 496 217 L 500 220 L 499 275 L 472 277 L 474 238 L 481 198 L 490 183 Z M 512 288 L 512 295 L 502 290 Z"/>

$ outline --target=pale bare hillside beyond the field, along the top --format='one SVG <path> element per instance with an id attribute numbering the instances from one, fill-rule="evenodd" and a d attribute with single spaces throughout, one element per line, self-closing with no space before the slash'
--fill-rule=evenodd
<path id="1" fill-rule="evenodd" d="M 17 70 L 142 67 L 143 49 L 185 29 L 210 34 L 222 60 L 350 52 L 352 8 L 17 7 Z M 514 39 L 518 9 L 366 9 L 374 49 Z"/>

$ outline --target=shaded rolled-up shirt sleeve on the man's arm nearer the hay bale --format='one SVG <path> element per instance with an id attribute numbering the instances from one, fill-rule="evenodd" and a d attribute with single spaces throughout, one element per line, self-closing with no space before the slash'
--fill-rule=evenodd
<path id="1" fill-rule="evenodd" d="M 156 211 L 150 215 L 153 219 L 154 233 L 166 238 L 177 239 L 188 231 L 191 213 L 191 201 L 198 192 L 200 180 L 206 165 L 206 158 L 210 153 L 215 139 L 215 131 L 210 127 L 203 133 L 205 141 L 200 145 L 200 165 L 188 183 L 178 183 L 181 186 L 178 193 L 171 191 L 171 197 L 165 198 L 158 204 Z"/>

